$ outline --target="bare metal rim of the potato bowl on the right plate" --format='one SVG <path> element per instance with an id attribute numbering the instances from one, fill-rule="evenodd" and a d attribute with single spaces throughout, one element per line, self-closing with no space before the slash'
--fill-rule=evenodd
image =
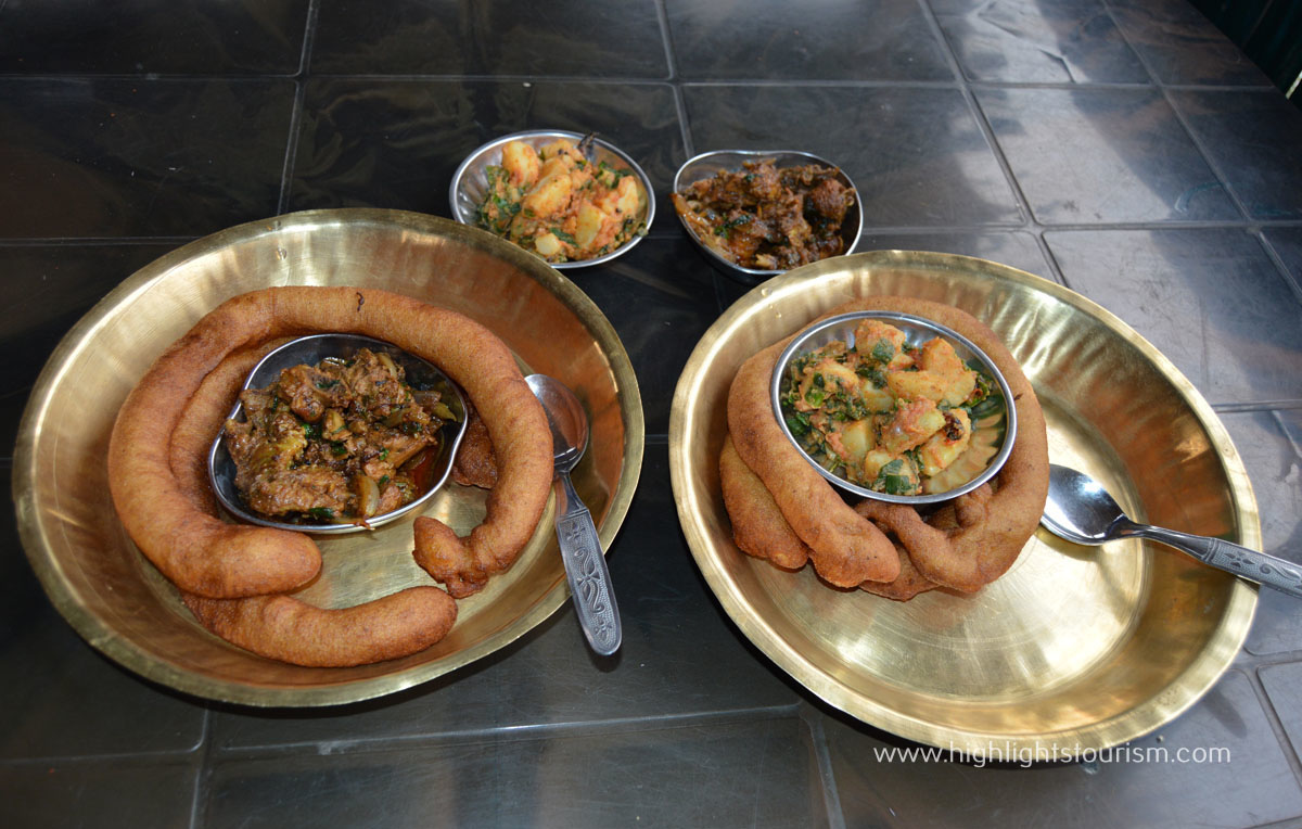
<path id="1" fill-rule="evenodd" d="M 965 363 L 975 363 L 980 366 L 982 374 L 987 375 L 999 385 L 1000 393 L 1004 396 L 1003 418 L 992 418 L 992 422 L 983 424 L 982 428 L 995 428 L 1000 429 L 1003 433 L 997 436 L 999 450 L 991 459 L 990 465 L 976 478 L 973 478 L 961 487 L 956 487 L 947 492 L 936 492 L 930 495 L 891 495 L 887 492 L 875 492 L 867 487 L 861 487 L 859 484 L 852 483 L 840 475 L 831 472 L 815 461 L 801 442 L 792 435 L 790 428 L 786 426 L 786 418 L 783 416 L 781 397 L 790 388 L 790 372 L 788 371 L 793 359 L 801 354 L 818 350 L 833 341 L 840 340 L 845 342 L 849 347 L 854 347 L 854 329 L 861 320 L 865 319 L 879 319 L 891 325 L 894 325 L 905 333 L 905 338 L 914 344 L 922 345 L 932 337 L 943 337 L 949 341 L 949 345 L 954 346 L 954 351 L 958 358 Z M 792 441 L 792 445 L 801 453 L 809 463 L 819 471 L 823 478 L 832 482 L 835 485 L 853 492 L 865 498 L 874 498 L 876 501 L 889 501 L 892 504 L 939 504 L 941 501 L 949 501 L 957 498 L 965 492 L 971 492 L 976 487 L 980 487 L 987 480 L 993 478 L 1004 462 L 1008 461 L 1008 455 L 1013 452 L 1013 441 L 1017 437 L 1017 409 L 1013 406 L 1013 390 L 1008 387 L 1008 380 L 1004 379 L 1004 374 L 999 367 L 982 351 L 974 342 L 960 334 L 958 332 L 934 323 L 928 319 L 921 316 L 914 316 L 911 314 L 898 314 L 896 311 L 855 311 L 853 314 L 841 314 L 838 316 L 832 316 L 822 323 L 810 325 L 801 333 L 796 334 L 796 338 L 783 350 L 777 358 L 777 364 L 773 367 L 773 379 L 769 385 L 769 398 L 773 406 L 773 416 L 777 418 L 779 426 L 783 428 L 783 433 L 786 439 Z"/>

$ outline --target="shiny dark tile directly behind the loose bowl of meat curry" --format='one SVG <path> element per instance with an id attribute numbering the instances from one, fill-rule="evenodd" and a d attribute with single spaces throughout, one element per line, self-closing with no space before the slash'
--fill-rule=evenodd
<path id="1" fill-rule="evenodd" d="M 962 94 L 935 87 L 684 88 L 697 152 L 803 150 L 845 169 L 865 228 L 1021 224 Z M 775 118 L 773 113 L 783 113 Z M 827 113 L 837 113 L 837 129 Z"/>

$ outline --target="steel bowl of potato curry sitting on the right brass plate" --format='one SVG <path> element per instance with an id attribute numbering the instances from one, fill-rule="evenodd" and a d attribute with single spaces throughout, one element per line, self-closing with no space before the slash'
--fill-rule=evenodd
<path id="1" fill-rule="evenodd" d="M 896 311 L 823 320 L 783 350 L 771 384 L 786 437 L 835 485 L 865 498 L 937 504 L 993 478 L 1017 410 L 975 344 Z"/>

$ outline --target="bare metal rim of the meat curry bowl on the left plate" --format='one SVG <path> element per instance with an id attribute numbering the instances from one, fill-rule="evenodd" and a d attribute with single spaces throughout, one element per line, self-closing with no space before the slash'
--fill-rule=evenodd
<path id="1" fill-rule="evenodd" d="M 452 461 L 457 454 L 457 448 L 461 445 L 461 437 L 466 432 L 466 401 L 461 396 L 461 389 L 457 388 L 457 384 L 439 371 L 436 366 L 392 344 L 359 334 L 310 334 L 307 337 L 298 337 L 263 357 L 254 366 L 253 371 L 249 372 L 249 379 L 245 380 L 243 388 L 266 388 L 275 383 L 280 372 L 285 368 L 301 364 L 315 366 L 327 357 L 349 359 L 363 347 L 371 349 L 376 354 L 383 351 L 392 357 L 393 362 L 402 367 L 406 383 L 413 388 L 441 392 L 443 402 L 457 415 L 454 423 L 443 424 L 439 435 L 439 454 L 434 459 L 434 467 L 430 472 L 428 491 L 422 493 L 415 501 L 391 513 L 381 513 L 367 518 L 365 526 L 358 523 L 296 523 L 277 521 L 260 515 L 245 505 L 240 491 L 236 488 L 236 463 L 230 459 L 230 453 L 227 450 L 227 441 L 221 435 L 217 435 L 217 439 L 212 441 L 212 448 L 208 450 L 208 478 L 212 482 L 212 489 L 216 492 L 217 500 L 230 514 L 253 524 L 276 527 L 279 530 L 329 535 L 357 532 L 358 530 L 387 524 L 414 509 L 419 509 L 448 480 L 448 475 L 452 472 Z M 229 416 L 242 419 L 243 405 L 237 402 L 234 409 L 230 410 Z"/>

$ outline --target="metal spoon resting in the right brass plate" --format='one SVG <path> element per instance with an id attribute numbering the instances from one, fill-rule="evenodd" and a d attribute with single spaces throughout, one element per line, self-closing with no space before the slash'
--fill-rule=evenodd
<path id="1" fill-rule="evenodd" d="M 1103 544 L 1115 539 L 1161 541 L 1206 565 L 1302 599 L 1302 567 L 1221 539 L 1135 523 L 1103 484 L 1065 466 L 1049 467 L 1049 497 L 1040 523 L 1075 544 Z"/>

